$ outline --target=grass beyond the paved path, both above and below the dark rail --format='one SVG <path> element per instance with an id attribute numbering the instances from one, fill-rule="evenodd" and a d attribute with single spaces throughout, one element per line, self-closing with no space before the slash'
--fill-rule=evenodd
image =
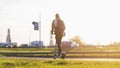
<path id="1" fill-rule="evenodd" d="M 114 47 L 78 47 L 78 48 L 64 48 L 65 52 L 103 52 L 103 51 L 120 51 L 120 46 Z M 0 52 L 53 52 L 54 48 L 0 48 Z M 40 57 L 40 56 L 49 56 L 52 57 L 53 54 L 0 54 L 0 56 L 31 56 L 31 57 Z M 119 57 L 120 54 L 67 54 L 67 56 L 99 56 L 99 57 Z"/>

